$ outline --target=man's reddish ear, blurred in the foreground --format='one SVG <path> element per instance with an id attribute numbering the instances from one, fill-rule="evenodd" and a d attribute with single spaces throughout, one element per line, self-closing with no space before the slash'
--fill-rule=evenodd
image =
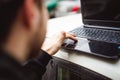
<path id="1" fill-rule="evenodd" d="M 34 12 L 34 0 L 24 0 L 23 4 L 23 21 L 26 28 L 31 28 L 33 26 L 33 20 L 35 16 Z"/>

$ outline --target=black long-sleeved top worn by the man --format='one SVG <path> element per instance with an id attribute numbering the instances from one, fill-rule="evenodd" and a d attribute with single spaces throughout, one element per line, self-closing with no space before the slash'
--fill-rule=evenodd
<path id="1" fill-rule="evenodd" d="M 38 58 L 21 65 L 0 50 L 0 80 L 41 80 L 50 59 L 52 57 L 42 50 Z"/>

